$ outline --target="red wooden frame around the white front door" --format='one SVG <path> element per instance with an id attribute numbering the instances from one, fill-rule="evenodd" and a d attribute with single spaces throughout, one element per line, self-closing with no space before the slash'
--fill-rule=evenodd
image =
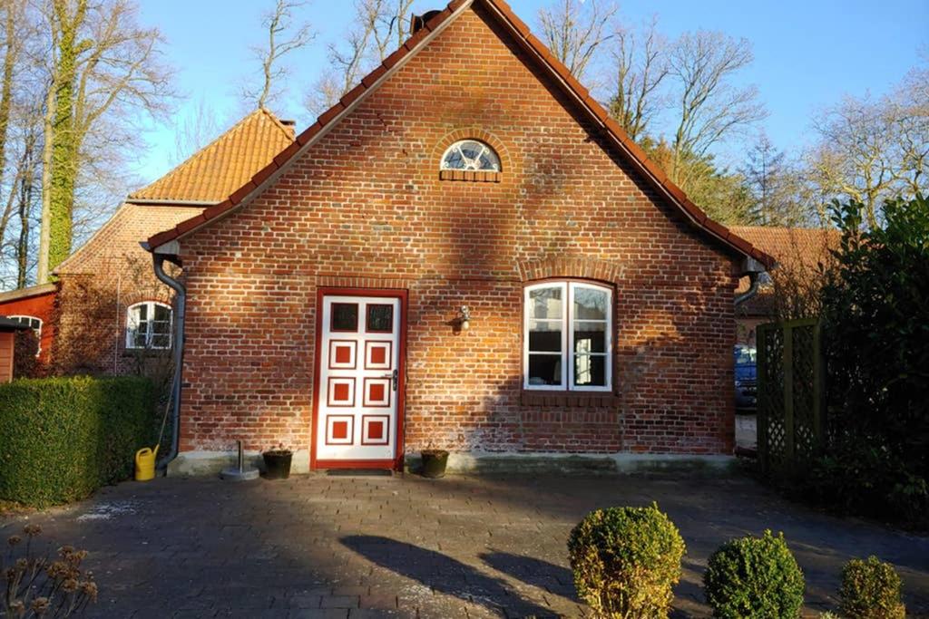
<path id="1" fill-rule="evenodd" d="M 320 416 L 320 364 L 322 361 L 322 300 L 325 297 L 383 297 L 399 299 L 400 322 L 397 345 L 397 439 L 393 459 L 384 460 L 318 460 L 316 458 L 317 428 Z M 407 290 L 367 288 L 320 288 L 316 290 L 316 350 L 313 360 L 313 419 L 310 432 L 309 468 L 316 469 L 393 469 L 403 467 L 403 418 L 406 407 L 406 333 L 407 333 Z M 359 316 L 361 320 L 362 316 Z"/>

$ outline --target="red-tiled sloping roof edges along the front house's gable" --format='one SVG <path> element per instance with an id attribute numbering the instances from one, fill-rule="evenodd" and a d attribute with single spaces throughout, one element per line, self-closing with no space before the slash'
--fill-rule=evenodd
<path id="1" fill-rule="evenodd" d="M 292 161 L 311 148 L 323 135 L 326 135 L 335 124 L 354 110 L 378 85 L 398 71 L 407 60 L 425 47 L 453 19 L 474 3 L 480 3 L 490 9 L 491 15 L 504 26 L 506 31 L 513 35 L 517 45 L 524 49 L 530 58 L 533 58 L 569 97 L 574 99 L 579 109 L 595 123 L 595 126 L 599 127 L 600 132 L 615 147 L 619 148 L 628 161 L 653 187 L 685 215 L 687 221 L 729 250 L 745 258 L 757 261 L 767 268 L 772 268 L 775 265 L 774 258 L 764 251 L 756 249 L 750 242 L 740 238 L 726 226 L 714 222 L 692 201 L 688 200 L 687 195 L 671 182 L 661 168 L 648 159 L 645 151 L 626 135 L 619 123 L 609 117 L 607 110 L 604 110 L 603 106 L 594 97 L 591 97 L 590 92 L 570 75 L 568 69 L 552 55 L 542 41 L 530 32 L 529 27 L 521 19 L 517 18 L 504 0 L 453 0 L 444 10 L 437 11 L 397 51 L 385 58 L 380 66 L 362 79 L 361 83 L 355 88 L 348 91 L 332 108 L 323 112 L 316 123 L 296 137 L 293 144 L 284 149 L 263 170 L 255 174 L 251 180 L 231 193 L 226 200 L 205 209 L 203 213 L 178 224 L 174 228 L 150 237 L 148 241 L 143 243 L 143 246 L 149 251 L 158 251 L 166 243 L 183 239 L 203 226 L 228 216 L 253 200 L 265 187 L 271 185 L 289 167 Z"/>

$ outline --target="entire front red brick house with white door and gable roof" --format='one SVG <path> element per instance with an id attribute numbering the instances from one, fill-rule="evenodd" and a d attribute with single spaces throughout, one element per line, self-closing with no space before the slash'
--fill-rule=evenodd
<path id="1" fill-rule="evenodd" d="M 733 295 L 700 212 L 501 0 L 456 0 L 229 198 L 183 266 L 180 456 L 296 470 L 726 455 Z M 452 460 L 454 461 L 454 459 Z"/>

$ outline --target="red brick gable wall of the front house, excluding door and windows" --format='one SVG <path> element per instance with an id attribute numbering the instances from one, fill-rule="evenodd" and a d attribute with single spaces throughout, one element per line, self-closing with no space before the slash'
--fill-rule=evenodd
<path id="1" fill-rule="evenodd" d="M 410 291 L 407 451 L 731 452 L 732 258 L 639 182 L 480 11 L 274 187 L 181 242 L 183 451 L 237 438 L 307 448 L 315 290 L 377 286 Z M 502 182 L 439 181 L 455 135 L 491 141 Z M 522 288 L 537 277 L 616 287 L 612 400 L 520 397 Z M 471 329 L 456 333 L 463 304 Z"/>

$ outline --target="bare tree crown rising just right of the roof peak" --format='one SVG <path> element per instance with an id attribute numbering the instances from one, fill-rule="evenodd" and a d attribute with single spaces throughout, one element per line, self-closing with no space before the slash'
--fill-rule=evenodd
<path id="1" fill-rule="evenodd" d="M 601 6 L 597 0 L 556 0 L 539 9 L 545 45 L 579 81 L 597 48 L 612 38 L 607 26 L 616 11 L 616 5 Z"/>

